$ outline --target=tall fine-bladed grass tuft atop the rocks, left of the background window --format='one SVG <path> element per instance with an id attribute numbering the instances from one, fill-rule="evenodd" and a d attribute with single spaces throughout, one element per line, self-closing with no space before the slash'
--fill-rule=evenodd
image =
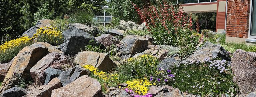
<path id="1" fill-rule="evenodd" d="M 98 26 L 96 20 L 93 19 L 93 14 L 86 10 L 76 10 L 70 16 L 70 23 L 81 23 L 87 26 Z"/>

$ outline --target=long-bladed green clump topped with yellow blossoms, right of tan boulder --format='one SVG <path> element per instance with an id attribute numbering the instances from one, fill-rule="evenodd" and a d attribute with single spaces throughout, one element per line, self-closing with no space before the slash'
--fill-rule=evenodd
<path id="1" fill-rule="evenodd" d="M 158 59 L 151 55 L 141 55 L 136 58 L 130 58 L 118 65 L 115 70 L 118 74 L 124 74 L 131 78 L 138 76 L 143 78 L 145 75 L 154 75 L 157 70 Z"/>

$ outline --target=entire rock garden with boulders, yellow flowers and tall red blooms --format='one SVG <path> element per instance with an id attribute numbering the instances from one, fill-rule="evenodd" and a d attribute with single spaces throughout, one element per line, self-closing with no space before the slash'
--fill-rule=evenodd
<path id="1" fill-rule="evenodd" d="M 0 45 L 0 97 L 256 97 L 255 46 L 159 2 L 131 3 L 140 24 L 38 20 Z"/>

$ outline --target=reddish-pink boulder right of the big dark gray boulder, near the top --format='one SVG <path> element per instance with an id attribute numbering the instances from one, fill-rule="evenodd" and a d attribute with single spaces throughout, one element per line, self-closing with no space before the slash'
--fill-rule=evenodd
<path id="1" fill-rule="evenodd" d="M 99 37 L 96 37 L 95 39 L 102 43 L 105 47 L 119 43 L 118 39 L 110 34 L 102 34 Z"/>

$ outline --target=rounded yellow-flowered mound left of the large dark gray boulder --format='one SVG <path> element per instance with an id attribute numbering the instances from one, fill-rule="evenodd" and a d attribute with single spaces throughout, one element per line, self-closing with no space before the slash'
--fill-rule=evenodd
<path id="1" fill-rule="evenodd" d="M 63 43 L 62 32 L 57 27 L 40 27 L 37 29 L 33 38 L 37 38 L 38 42 L 48 42 L 52 45 L 59 45 Z"/>

